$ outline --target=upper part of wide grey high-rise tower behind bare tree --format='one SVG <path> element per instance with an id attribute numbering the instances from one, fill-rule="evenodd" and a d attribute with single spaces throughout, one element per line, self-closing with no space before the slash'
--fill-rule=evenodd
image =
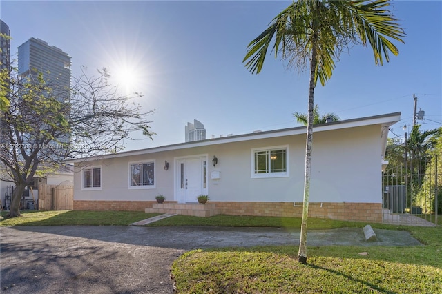
<path id="1" fill-rule="evenodd" d="M 35 70 L 37 72 L 35 72 Z M 46 86 L 68 95 L 70 89 L 70 56 L 40 39 L 30 38 L 19 46 L 19 77 L 43 74 Z"/>

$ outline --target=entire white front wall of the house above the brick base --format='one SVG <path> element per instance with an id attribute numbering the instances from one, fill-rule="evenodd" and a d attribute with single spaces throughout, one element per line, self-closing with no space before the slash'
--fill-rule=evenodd
<path id="1" fill-rule="evenodd" d="M 251 149 L 289 145 L 289 177 L 251 178 Z M 175 159 L 208 156 L 208 191 L 213 201 L 302 202 L 305 134 L 238 141 L 146 155 L 89 162 L 102 167 L 101 190 L 81 189 L 81 170 L 74 177 L 75 200 L 155 200 L 174 196 Z M 218 157 L 213 167 L 211 159 Z M 128 162 L 155 159 L 154 189 L 128 189 Z M 164 161 L 169 170 L 164 170 Z M 78 164 L 76 164 L 77 166 Z M 210 179 L 218 170 L 218 181 Z M 381 202 L 381 126 L 362 126 L 314 133 L 311 202 Z"/>

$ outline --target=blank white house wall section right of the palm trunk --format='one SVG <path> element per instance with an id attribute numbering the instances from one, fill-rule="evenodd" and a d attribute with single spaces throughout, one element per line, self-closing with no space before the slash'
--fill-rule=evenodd
<path id="1" fill-rule="evenodd" d="M 380 126 L 314 135 L 311 179 L 311 202 L 382 202 Z"/>

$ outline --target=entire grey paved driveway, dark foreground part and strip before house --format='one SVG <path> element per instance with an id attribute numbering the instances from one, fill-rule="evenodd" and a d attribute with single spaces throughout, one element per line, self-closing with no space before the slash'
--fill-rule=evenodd
<path id="1" fill-rule="evenodd" d="M 309 231 L 309 246 L 414 246 L 405 231 Z M 173 293 L 170 267 L 193 248 L 298 244 L 281 228 L 20 226 L 0 228 L 1 293 Z"/>

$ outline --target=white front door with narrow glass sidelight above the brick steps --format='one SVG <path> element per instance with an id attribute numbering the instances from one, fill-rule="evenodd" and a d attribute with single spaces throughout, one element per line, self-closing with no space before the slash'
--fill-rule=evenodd
<path id="1" fill-rule="evenodd" d="M 198 202 L 198 195 L 207 194 L 207 157 L 187 157 L 176 161 L 175 190 L 179 203 Z"/>

